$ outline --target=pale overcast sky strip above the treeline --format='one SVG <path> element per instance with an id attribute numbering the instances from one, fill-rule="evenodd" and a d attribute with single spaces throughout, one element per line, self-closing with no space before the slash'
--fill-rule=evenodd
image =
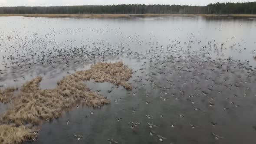
<path id="1" fill-rule="evenodd" d="M 204 6 L 216 2 L 245 2 L 256 0 L 0 0 L 0 7 L 13 6 L 69 6 L 69 5 L 112 5 L 112 4 L 181 4 Z"/>

